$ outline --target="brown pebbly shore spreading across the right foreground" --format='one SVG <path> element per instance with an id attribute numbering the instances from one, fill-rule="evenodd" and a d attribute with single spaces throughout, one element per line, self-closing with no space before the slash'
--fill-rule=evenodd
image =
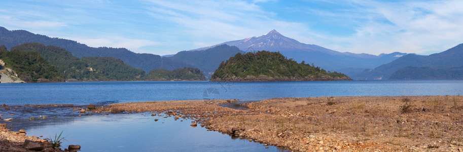
<path id="1" fill-rule="evenodd" d="M 152 111 L 293 151 L 463 151 L 463 97 L 274 98 L 116 103 L 96 112 Z"/>

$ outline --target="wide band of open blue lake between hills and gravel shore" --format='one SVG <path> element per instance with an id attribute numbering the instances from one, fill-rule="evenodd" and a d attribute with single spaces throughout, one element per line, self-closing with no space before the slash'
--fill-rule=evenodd
<path id="1" fill-rule="evenodd" d="M 0 103 L 75 104 L 276 97 L 463 95 L 463 80 L 331 82 L 75 82 L 0 84 Z"/>

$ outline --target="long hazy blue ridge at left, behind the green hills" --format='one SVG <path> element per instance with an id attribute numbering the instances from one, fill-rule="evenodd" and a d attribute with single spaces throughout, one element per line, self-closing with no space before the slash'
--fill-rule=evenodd
<path id="1" fill-rule="evenodd" d="M 115 57 L 122 59 L 127 65 L 135 68 L 141 68 L 149 71 L 155 68 L 164 68 L 168 70 L 190 67 L 181 61 L 173 61 L 169 58 L 161 57 L 159 55 L 147 53 L 134 53 L 125 48 L 108 48 L 88 47 L 85 44 L 80 44 L 76 41 L 52 38 L 46 35 L 34 34 L 26 30 L 8 30 L 0 27 L 0 45 L 5 45 L 8 49 L 24 43 L 40 43 L 43 45 L 57 46 L 64 48 L 71 52 L 74 56 L 82 58 L 84 56 L 90 57 Z"/>

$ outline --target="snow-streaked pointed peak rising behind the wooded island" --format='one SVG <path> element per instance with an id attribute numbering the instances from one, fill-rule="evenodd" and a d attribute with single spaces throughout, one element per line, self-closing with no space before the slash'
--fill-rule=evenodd
<path id="1" fill-rule="evenodd" d="M 265 35 L 249 37 L 243 40 L 224 42 L 218 45 L 236 46 L 242 51 L 273 51 L 280 52 L 288 58 L 296 61 L 314 63 L 324 69 L 338 71 L 347 74 L 372 69 L 379 65 L 389 63 L 406 53 L 394 52 L 390 54 L 355 54 L 350 52 L 337 52 L 317 45 L 300 43 L 294 39 L 281 35 L 278 31 L 272 30 Z M 194 49 L 190 51 L 204 50 L 218 45 Z M 352 77 L 351 77 L 352 78 Z M 356 79 L 355 77 L 352 79 Z"/>

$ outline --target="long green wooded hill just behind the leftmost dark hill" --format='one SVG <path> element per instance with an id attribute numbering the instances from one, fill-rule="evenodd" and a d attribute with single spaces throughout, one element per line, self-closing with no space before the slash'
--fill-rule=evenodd
<path id="1" fill-rule="evenodd" d="M 135 69 L 114 57 L 82 57 L 80 59 L 63 48 L 39 43 L 26 43 L 13 47 L 11 50 L 40 53 L 67 80 L 131 81 L 145 76 L 143 69 Z"/>

